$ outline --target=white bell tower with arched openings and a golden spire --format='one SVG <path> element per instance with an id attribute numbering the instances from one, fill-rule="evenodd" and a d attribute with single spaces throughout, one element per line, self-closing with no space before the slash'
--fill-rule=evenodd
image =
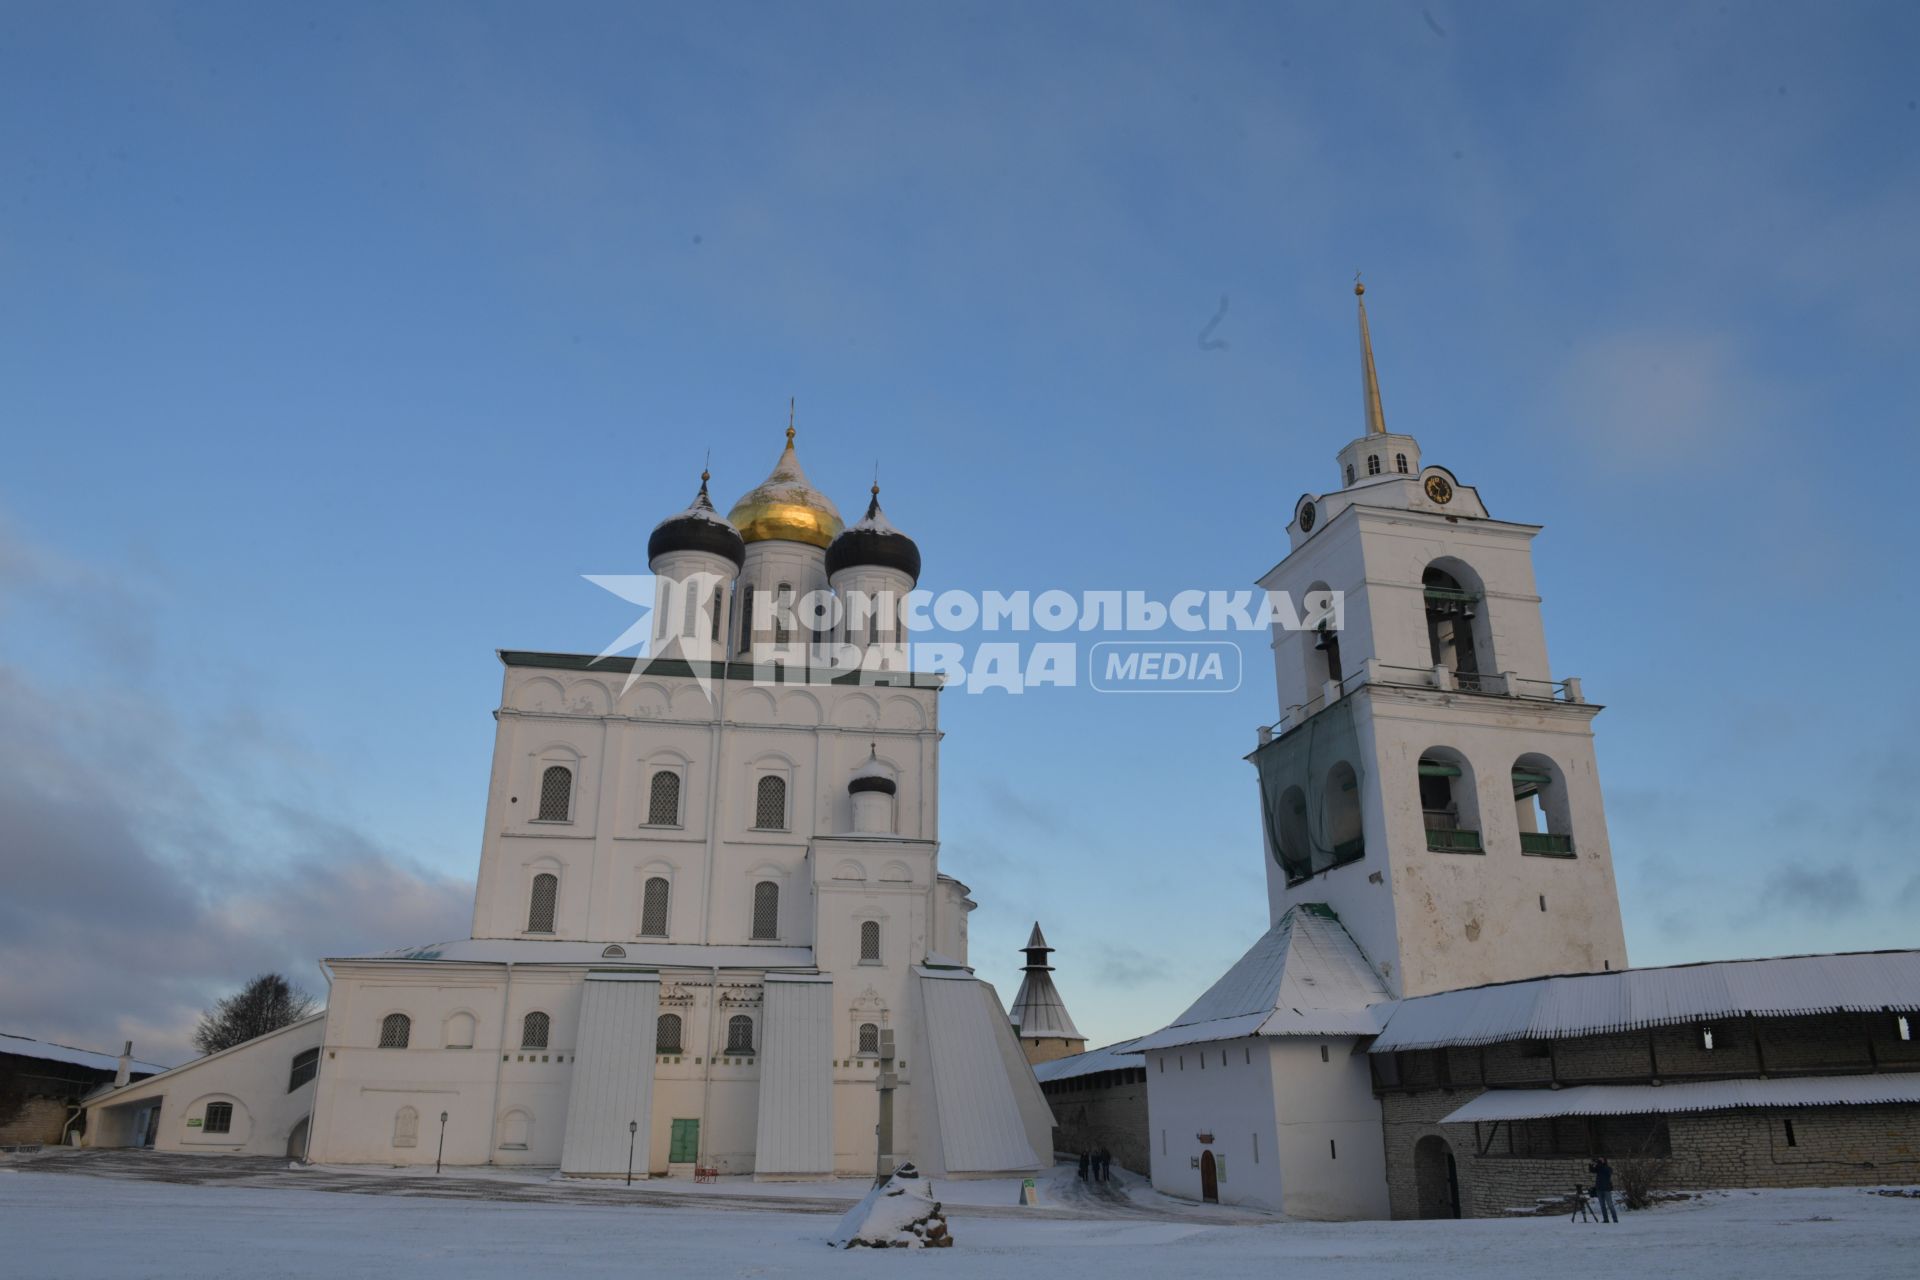
<path id="1" fill-rule="evenodd" d="M 1386 430 L 1354 294 L 1365 426 L 1260 580 L 1331 614 L 1273 631 L 1281 718 L 1250 756 L 1271 921 L 1329 904 L 1396 996 L 1624 967 L 1599 706 L 1548 664 L 1540 526 Z"/>

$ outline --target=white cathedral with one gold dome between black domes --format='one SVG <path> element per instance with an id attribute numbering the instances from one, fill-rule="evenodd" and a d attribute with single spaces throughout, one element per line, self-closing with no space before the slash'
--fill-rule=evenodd
<path id="1" fill-rule="evenodd" d="M 764 484 L 722 518 L 703 474 L 647 560 L 703 603 L 655 612 L 649 658 L 501 654 L 472 936 L 328 958 L 324 1013 L 90 1100 L 90 1146 L 872 1173 L 891 1050 L 902 1159 L 1052 1163 L 939 869 L 939 683 L 904 670 L 904 608 L 831 637 L 887 651 L 870 670 L 766 662 L 803 651 L 756 599 L 904 604 L 920 549 L 877 486 L 845 528 L 789 426 Z"/>

